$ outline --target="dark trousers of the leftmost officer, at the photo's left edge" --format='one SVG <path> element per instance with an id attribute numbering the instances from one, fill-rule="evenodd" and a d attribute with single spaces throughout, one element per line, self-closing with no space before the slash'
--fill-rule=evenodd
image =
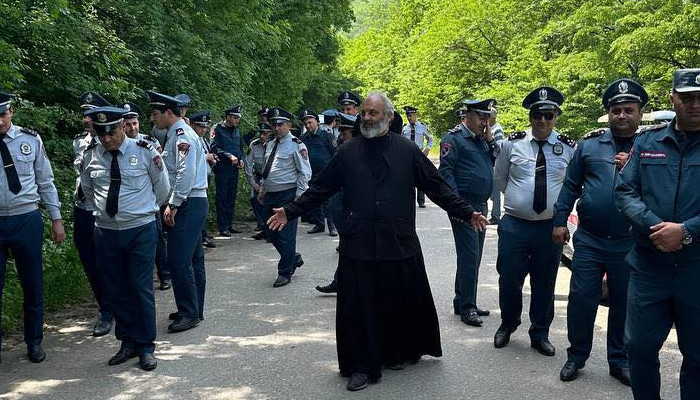
<path id="1" fill-rule="evenodd" d="M 41 244 L 44 224 L 39 210 L 0 217 L 0 290 L 5 284 L 9 251 L 15 259 L 17 276 L 24 296 L 24 341 L 41 344 L 44 326 L 44 297 L 41 271 Z M 1 296 L 0 296 L 1 297 Z M 2 317 L 0 298 L 0 318 Z M 2 337 L 0 336 L 0 345 Z"/>

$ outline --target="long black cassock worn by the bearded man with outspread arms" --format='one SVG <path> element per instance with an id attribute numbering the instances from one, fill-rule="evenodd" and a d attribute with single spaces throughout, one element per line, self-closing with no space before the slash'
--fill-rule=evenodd
<path id="1" fill-rule="evenodd" d="M 381 377 L 384 364 L 442 356 L 425 263 L 416 234 L 416 188 L 450 216 L 474 209 L 458 197 L 415 143 L 399 135 L 353 138 L 297 200 L 288 218 L 343 189 L 336 342 L 340 373 Z"/>

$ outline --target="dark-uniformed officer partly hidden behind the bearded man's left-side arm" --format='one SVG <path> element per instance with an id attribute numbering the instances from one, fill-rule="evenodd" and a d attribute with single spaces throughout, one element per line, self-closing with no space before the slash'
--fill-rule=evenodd
<path id="1" fill-rule="evenodd" d="M 313 110 L 304 110 L 301 114 L 301 121 L 306 128 L 306 132 L 301 136 L 301 141 L 306 145 L 309 153 L 309 164 L 311 164 L 311 181 L 317 177 L 335 155 L 335 137 L 330 132 L 322 131 L 319 126 L 318 114 Z M 311 211 L 311 222 L 314 227 L 307 233 L 321 233 L 326 230 L 325 220 L 328 221 L 328 234 L 338 236 L 328 208 L 328 202 L 324 202 L 321 207 Z"/>

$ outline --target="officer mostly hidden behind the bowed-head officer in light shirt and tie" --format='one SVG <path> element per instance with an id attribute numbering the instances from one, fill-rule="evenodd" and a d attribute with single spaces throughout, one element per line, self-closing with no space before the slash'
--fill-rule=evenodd
<path id="1" fill-rule="evenodd" d="M 95 141 L 92 118 L 85 113 L 93 108 L 109 106 L 109 102 L 95 92 L 85 92 L 80 96 L 80 108 L 83 109 L 83 132 L 73 138 L 73 166 L 77 174 L 75 186 L 75 204 L 73 206 L 73 243 L 78 250 L 78 257 L 83 264 L 83 271 L 88 278 L 90 288 L 97 301 L 97 322 L 92 327 L 92 336 L 104 336 L 112 329 L 112 311 L 105 301 L 97 273 L 97 254 L 95 253 L 95 217 L 92 215 L 91 203 L 85 198 L 80 185 L 80 163 L 85 149 Z"/>

